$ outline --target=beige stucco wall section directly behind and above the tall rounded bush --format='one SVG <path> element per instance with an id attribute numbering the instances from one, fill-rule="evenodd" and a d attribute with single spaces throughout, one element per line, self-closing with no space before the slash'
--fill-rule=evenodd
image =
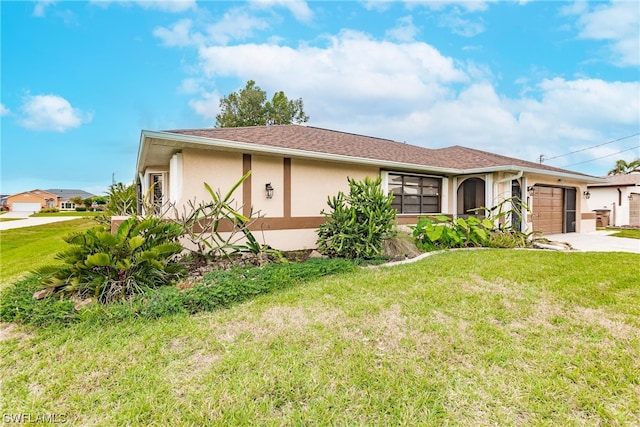
<path id="1" fill-rule="evenodd" d="M 379 168 L 291 159 L 291 216 L 319 216 L 328 209 L 327 197 L 349 191 L 347 177 L 377 178 Z"/>

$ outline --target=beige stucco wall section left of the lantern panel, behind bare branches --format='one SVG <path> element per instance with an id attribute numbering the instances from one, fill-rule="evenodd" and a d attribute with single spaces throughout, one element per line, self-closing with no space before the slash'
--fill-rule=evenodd
<path id="1" fill-rule="evenodd" d="M 242 154 L 197 149 L 182 150 L 183 192 L 178 205 L 196 198 L 196 202 L 211 200 L 204 183 L 224 196 L 242 178 Z M 242 206 L 242 186 L 233 195 L 235 205 Z"/>

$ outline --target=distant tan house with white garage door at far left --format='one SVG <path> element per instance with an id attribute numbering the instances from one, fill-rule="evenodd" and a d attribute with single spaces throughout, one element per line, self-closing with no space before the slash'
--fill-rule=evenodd
<path id="1" fill-rule="evenodd" d="M 74 210 L 76 205 L 71 202 L 71 199 L 77 196 L 82 197 L 83 200 L 95 197 L 82 190 L 32 190 L 7 197 L 7 206 L 13 212 L 38 212 L 45 208 Z"/>

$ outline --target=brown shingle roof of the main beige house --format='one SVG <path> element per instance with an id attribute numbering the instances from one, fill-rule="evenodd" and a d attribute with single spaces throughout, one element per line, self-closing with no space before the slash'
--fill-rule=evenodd
<path id="1" fill-rule="evenodd" d="M 459 145 L 431 149 L 390 139 L 374 138 L 311 126 L 272 125 L 179 129 L 164 132 L 437 168 L 477 169 L 514 166 L 516 168 L 526 167 L 589 176 Z"/>

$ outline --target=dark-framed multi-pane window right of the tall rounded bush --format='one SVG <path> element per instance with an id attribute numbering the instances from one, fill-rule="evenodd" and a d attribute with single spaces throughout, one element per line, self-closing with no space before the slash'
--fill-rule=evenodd
<path id="1" fill-rule="evenodd" d="M 393 193 L 391 207 L 402 214 L 438 213 L 442 179 L 389 174 L 389 192 Z"/>

